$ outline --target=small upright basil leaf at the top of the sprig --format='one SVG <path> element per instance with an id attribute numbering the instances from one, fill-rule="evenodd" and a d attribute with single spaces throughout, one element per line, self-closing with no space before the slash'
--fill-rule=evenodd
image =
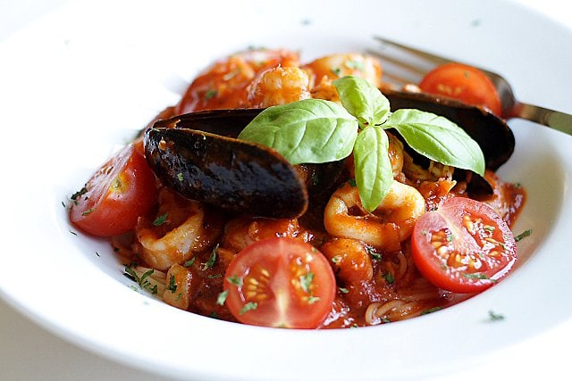
<path id="1" fill-rule="evenodd" d="M 357 118 L 362 128 L 382 124 L 390 113 L 390 101 L 366 79 L 342 77 L 332 82 L 341 104 Z"/>

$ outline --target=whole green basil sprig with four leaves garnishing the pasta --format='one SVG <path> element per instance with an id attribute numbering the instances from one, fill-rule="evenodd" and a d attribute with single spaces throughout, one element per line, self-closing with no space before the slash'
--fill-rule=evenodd
<path id="1" fill-rule="evenodd" d="M 389 100 L 365 79 L 348 76 L 333 85 L 343 107 L 320 99 L 269 107 L 239 138 L 267 145 L 292 164 L 334 162 L 353 151 L 366 211 L 379 206 L 393 181 L 387 128 L 395 128 L 411 148 L 434 162 L 484 175 L 483 151 L 452 121 L 415 109 L 391 113 Z"/>

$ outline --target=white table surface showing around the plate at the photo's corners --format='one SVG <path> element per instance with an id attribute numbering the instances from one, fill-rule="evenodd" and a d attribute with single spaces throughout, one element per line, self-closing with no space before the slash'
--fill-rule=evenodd
<path id="1" fill-rule="evenodd" d="M 66 1 L 0 0 L 0 41 Z M 572 28 L 572 6 L 568 0 L 516 2 L 526 4 Z M 570 341 L 572 322 L 511 348 L 498 361 L 487 363 L 482 372 L 475 374 L 474 369 L 471 369 L 466 373 L 440 379 L 572 379 L 572 371 L 568 370 Z M 553 348 L 553 351 L 538 352 L 536 348 Z M 161 378 L 125 367 L 70 344 L 31 322 L 0 299 L 0 379 L 146 381 Z"/>

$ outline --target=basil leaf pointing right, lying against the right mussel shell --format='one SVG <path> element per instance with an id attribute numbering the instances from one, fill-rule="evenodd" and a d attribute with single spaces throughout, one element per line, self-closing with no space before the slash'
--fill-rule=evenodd
<path id="1" fill-rule="evenodd" d="M 434 162 L 484 175 L 481 147 L 463 128 L 431 112 L 400 109 L 393 112 L 383 128 L 395 128 L 417 153 Z"/>

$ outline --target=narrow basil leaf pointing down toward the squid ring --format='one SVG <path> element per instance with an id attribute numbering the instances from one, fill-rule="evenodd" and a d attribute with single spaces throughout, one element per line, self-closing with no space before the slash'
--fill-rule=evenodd
<path id="1" fill-rule="evenodd" d="M 381 127 L 368 126 L 356 139 L 354 162 L 359 198 L 366 211 L 374 211 L 390 190 L 393 182 L 389 139 Z"/>

